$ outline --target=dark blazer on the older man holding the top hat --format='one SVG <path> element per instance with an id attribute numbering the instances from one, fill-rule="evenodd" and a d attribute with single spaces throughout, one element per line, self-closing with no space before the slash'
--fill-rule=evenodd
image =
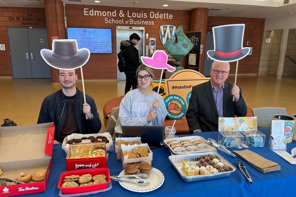
<path id="1" fill-rule="evenodd" d="M 247 106 L 240 88 L 240 100 L 237 104 L 232 101 L 231 90 L 233 83 L 224 82 L 223 117 L 243 117 L 247 115 Z M 211 80 L 192 88 L 186 112 L 189 133 L 201 131 L 218 131 L 218 110 L 212 92 Z"/>

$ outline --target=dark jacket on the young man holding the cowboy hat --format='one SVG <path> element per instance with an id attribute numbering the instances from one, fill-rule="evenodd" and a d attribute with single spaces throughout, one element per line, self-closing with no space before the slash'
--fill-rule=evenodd
<path id="1" fill-rule="evenodd" d="M 73 101 L 73 113 L 76 120 L 79 133 L 98 133 L 102 127 L 96 103 L 93 98 L 85 95 L 86 102 L 91 107 L 91 113 L 94 115 L 92 120 L 87 120 L 82 111 L 84 99 L 83 93 L 76 88 L 76 96 Z M 37 124 L 51 123 L 55 125 L 54 139 L 58 140 L 68 112 L 68 102 L 64 99 L 62 90 L 59 90 L 47 97 L 42 102 Z"/>

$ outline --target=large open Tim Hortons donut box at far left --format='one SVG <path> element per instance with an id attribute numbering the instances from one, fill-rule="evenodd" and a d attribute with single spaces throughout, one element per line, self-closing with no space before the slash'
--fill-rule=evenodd
<path id="1" fill-rule="evenodd" d="M 15 179 L 20 173 L 47 169 L 44 181 L 0 186 L 1 197 L 45 192 L 51 171 L 54 124 L 0 128 L 1 178 Z"/>

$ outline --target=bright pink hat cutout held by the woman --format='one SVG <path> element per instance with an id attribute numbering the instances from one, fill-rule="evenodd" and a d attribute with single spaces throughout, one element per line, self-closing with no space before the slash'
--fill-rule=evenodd
<path id="1" fill-rule="evenodd" d="M 141 60 L 143 64 L 155 69 L 167 69 L 168 71 L 175 71 L 176 68 L 168 65 L 168 55 L 164 51 L 155 51 L 151 58 L 142 56 Z"/>

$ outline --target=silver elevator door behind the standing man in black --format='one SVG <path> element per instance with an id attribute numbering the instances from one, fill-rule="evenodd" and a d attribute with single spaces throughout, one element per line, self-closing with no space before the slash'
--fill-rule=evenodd
<path id="1" fill-rule="evenodd" d="M 137 33 L 140 36 L 140 41 L 136 48 L 139 51 L 139 57 L 144 56 L 144 45 L 145 45 L 145 28 L 144 27 L 125 27 L 116 26 L 116 54 L 120 52 L 120 42 L 121 40 L 129 40 L 129 36 L 132 33 Z M 117 57 L 117 56 L 116 56 Z M 116 59 L 118 62 L 118 58 Z M 139 60 L 141 62 L 141 59 Z M 116 62 L 116 63 L 117 63 Z M 124 72 L 119 72 L 117 67 L 117 81 L 125 81 Z"/>

